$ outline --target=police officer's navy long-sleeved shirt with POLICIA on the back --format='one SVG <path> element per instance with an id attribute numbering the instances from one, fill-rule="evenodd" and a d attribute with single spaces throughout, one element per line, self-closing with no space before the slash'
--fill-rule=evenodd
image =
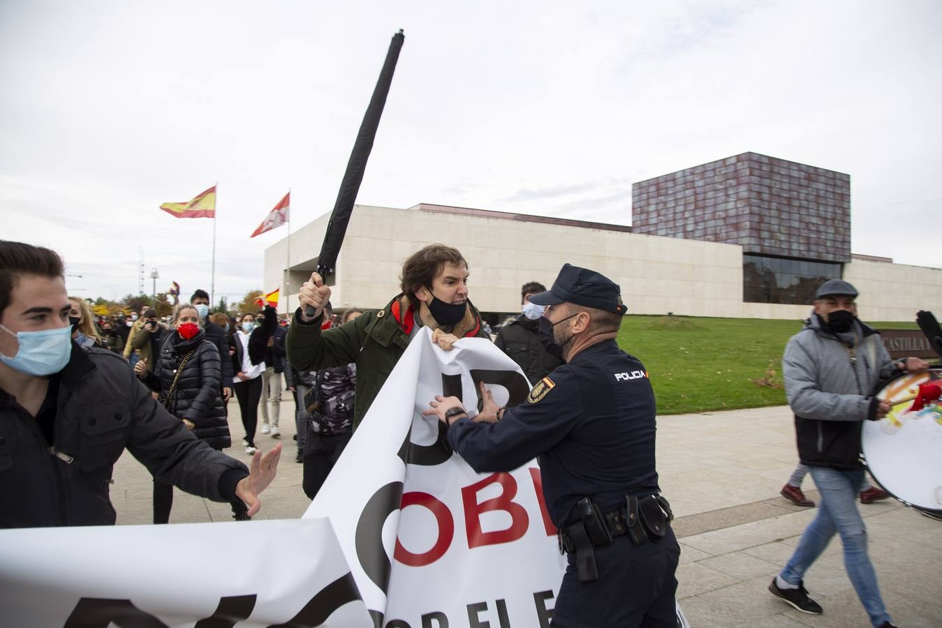
<path id="1" fill-rule="evenodd" d="M 625 494 L 658 491 L 655 414 L 642 362 L 609 340 L 550 373 L 497 423 L 464 418 L 447 438 L 479 473 L 539 456 L 546 507 L 560 527 L 576 520 L 573 509 L 587 495 L 608 512 Z"/>

